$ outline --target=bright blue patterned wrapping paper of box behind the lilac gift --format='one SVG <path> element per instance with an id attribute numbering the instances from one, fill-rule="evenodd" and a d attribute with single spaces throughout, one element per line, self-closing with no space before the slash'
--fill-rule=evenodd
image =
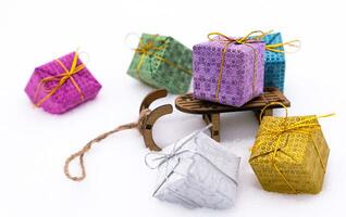
<path id="1" fill-rule="evenodd" d="M 265 44 L 283 42 L 280 33 L 265 35 L 262 40 Z M 284 50 L 283 47 L 276 49 Z M 264 87 L 276 87 L 280 91 L 283 91 L 285 82 L 285 53 L 267 50 L 264 56 Z"/>

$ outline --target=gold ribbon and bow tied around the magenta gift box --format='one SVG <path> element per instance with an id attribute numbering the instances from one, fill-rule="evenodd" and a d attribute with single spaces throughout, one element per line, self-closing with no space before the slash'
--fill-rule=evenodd
<path id="1" fill-rule="evenodd" d="M 64 69 L 64 73 L 59 74 L 59 75 L 54 75 L 54 76 L 46 77 L 38 82 L 38 87 L 37 87 L 36 93 L 35 93 L 35 100 L 34 100 L 35 102 L 37 101 L 40 89 L 42 87 L 45 88 L 45 85 L 47 82 L 58 81 L 58 85 L 55 87 L 53 87 L 42 99 L 40 99 L 37 103 L 35 103 L 35 106 L 37 106 L 37 107 L 41 106 L 41 104 L 45 101 L 47 101 L 49 98 L 51 98 L 67 80 L 71 80 L 73 86 L 78 91 L 78 93 L 81 95 L 81 100 L 84 101 L 84 94 L 83 94 L 79 86 L 77 85 L 77 82 L 73 78 L 73 75 L 75 75 L 75 74 L 79 73 L 82 69 L 84 69 L 84 64 L 81 64 L 77 66 L 78 53 L 75 52 L 70 71 L 59 59 L 57 59 L 55 61 Z M 46 91 L 47 91 L 47 89 L 46 89 Z"/>

